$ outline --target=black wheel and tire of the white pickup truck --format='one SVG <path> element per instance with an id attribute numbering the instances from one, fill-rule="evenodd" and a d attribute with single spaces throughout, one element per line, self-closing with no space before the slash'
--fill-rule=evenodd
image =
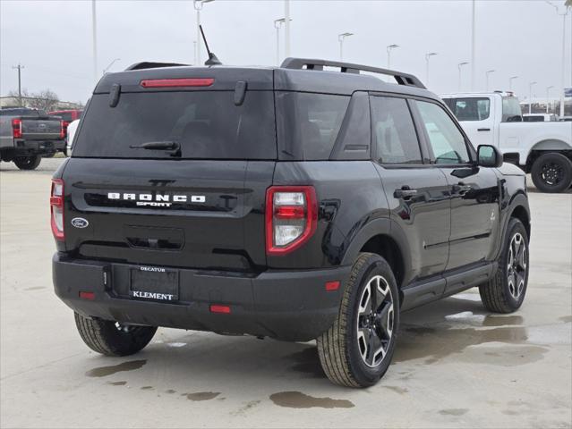
<path id="1" fill-rule="evenodd" d="M 536 158 L 531 175 L 538 190 L 562 192 L 572 184 L 572 161 L 558 152 L 549 152 Z"/>

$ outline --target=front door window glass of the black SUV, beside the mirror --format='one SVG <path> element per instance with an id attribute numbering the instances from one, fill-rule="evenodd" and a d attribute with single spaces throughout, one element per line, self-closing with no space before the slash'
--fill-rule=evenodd
<path id="1" fill-rule="evenodd" d="M 415 101 L 425 125 L 435 164 L 466 164 L 470 161 L 465 138 L 448 114 L 434 103 Z"/>

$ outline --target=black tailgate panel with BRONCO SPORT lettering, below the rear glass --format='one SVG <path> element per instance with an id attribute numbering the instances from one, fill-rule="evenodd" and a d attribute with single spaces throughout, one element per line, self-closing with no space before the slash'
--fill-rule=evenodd
<path id="1" fill-rule="evenodd" d="M 257 271 L 266 265 L 274 164 L 73 158 L 63 177 L 66 248 L 116 262 Z"/>

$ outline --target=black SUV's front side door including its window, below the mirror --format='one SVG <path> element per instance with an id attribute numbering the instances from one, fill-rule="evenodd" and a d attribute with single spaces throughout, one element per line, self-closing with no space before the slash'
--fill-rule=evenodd
<path id="1" fill-rule="evenodd" d="M 491 168 L 473 163 L 474 151 L 438 103 L 415 100 L 431 163 L 445 174 L 451 195 L 447 269 L 491 260 L 499 233 L 499 183 Z"/>

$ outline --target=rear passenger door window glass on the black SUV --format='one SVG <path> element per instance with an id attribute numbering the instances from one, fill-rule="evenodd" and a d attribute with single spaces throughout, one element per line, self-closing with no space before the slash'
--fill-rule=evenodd
<path id="1" fill-rule="evenodd" d="M 371 97 L 371 124 L 381 164 L 422 164 L 419 141 L 405 99 Z"/>

